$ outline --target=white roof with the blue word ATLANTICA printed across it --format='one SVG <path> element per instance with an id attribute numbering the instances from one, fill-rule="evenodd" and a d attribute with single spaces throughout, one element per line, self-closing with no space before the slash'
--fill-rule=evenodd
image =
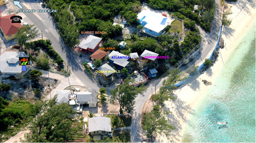
<path id="1" fill-rule="evenodd" d="M 128 59 L 115 59 L 116 57 L 127 57 L 126 55 L 119 53 L 118 51 L 113 50 L 111 53 L 109 53 L 108 57 L 111 61 L 113 61 L 114 64 L 118 64 L 122 67 L 125 67 L 129 62 Z M 113 58 L 112 58 L 113 57 Z"/>

